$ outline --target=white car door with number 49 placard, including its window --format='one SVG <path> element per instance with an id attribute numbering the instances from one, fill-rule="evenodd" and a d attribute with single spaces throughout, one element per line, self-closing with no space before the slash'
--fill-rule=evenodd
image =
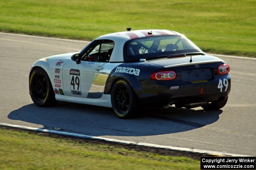
<path id="1" fill-rule="evenodd" d="M 110 73 L 108 62 L 114 41 L 98 40 L 84 52 L 81 63 L 68 61 L 63 67 L 64 91 L 67 96 L 100 98 Z"/>

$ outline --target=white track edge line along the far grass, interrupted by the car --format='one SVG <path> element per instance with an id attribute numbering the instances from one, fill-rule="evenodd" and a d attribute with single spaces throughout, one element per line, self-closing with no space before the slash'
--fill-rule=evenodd
<path id="1" fill-rule="evenodd" d="M 90 41 L 83 41 L 83 40 L 71 40 L 71 39 L 63 39 L 63 38 L 41 37 L 41 36 L 26 35 L 26 34 L 12 34 L 12 33 L 6 33 L 6 32 L 0 32 L 0 34 L 17 35 L 17 36 L 34 37 L 34 38 L 45 38 L 45 39 L 52 39 L 52 40 L 63 40 L 63 41 L 90 43 Z M 241 58 L 241 59 L 256 60 L 256 58 L 252 58 L 252 57 L 242 57 L 242 56 L 234 56 L 234 55 L 222 55 L 222 54 L 210 54 L 210 53 L 209 53 L 209 55 L 216 55 L 217 57 L 219 56 L 219 57 L 230 57 L 230 58 Z"/>

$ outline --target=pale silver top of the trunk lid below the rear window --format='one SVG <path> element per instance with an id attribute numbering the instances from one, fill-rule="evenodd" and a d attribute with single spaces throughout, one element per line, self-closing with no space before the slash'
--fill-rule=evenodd
<path id="1" fill-rule="evenodd" d="M 217 63 L 224 62 L 220 58 L 212 55 L 192 55 L 192 62 L 190 61 L 190 55 L 185 57 L 176 58 L 158 58 L 154 60 L 148 60 L 148 63 L 156 64 L 164 68 L 194 65 L 194 64 L 206 64 L 206 63 Z"/>

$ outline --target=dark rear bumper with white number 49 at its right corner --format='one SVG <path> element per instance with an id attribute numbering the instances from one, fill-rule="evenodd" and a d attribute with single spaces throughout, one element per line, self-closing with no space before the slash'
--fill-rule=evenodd
<path id="1" fill-rule="evenodd" d="M 222 92 L 218 88 L 219 81 L 228 80 L 227 88 L 223 86 Z M 133 83 L 133 89 L 142 106 L 158 107 L 166 106 L 169 103 L 177 105 L 225 100 L 231 89 L 230 74 L 215 76 L 208 82 L 183 82 L 174 81 L 153 81 L 151 79 L 140 83 Z M 170 87 L 179 87 L 170 89 Z M 225 91 L 226 90 L 226 91 Z"/>

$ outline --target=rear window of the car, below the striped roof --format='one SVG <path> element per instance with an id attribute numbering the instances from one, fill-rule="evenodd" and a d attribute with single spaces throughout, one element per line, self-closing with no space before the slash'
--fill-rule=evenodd
<path id="1" fill-rule="evenodd" d="M 204 53 L 185 36 L 152 36 L 129 40 L 124 45 L 124 60 L 134 61 L 177 54 Z"/>

